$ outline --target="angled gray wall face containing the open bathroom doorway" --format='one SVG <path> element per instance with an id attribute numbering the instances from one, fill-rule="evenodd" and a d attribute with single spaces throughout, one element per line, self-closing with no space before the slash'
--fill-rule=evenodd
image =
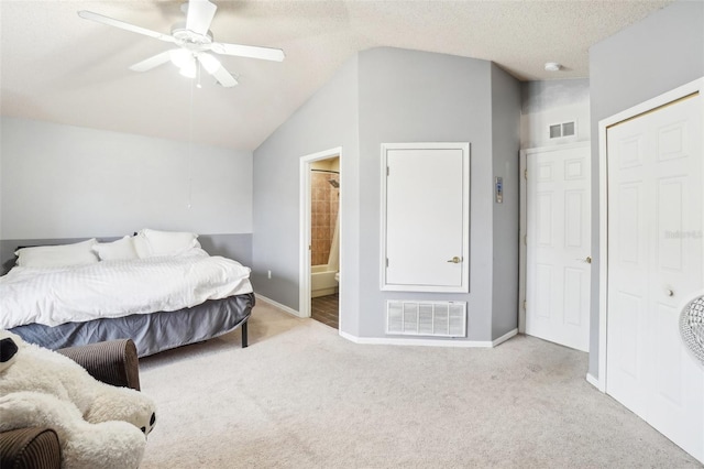
<path id="1" fill-rule="evenodd" d="M 293 309 L 299 299 L 299 164 L 302 156 L 342 146 L 340 159 L 341 325 L 356 335 L 359 312 L 358 58 L 348 61 L 296 113 L 254 151 L 254 290 Z M 267 279 L 267 271 L 272 279 Z M 342 315 L 341 315 L 342 316 Z"/>

